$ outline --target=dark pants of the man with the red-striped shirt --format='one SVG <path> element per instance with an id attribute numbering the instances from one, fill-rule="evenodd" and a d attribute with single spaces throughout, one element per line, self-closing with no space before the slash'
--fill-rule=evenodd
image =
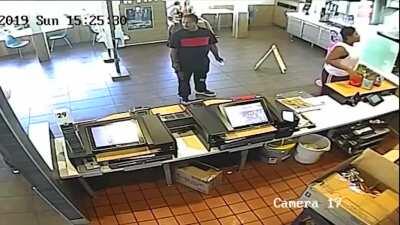
<path id="1" fill-rule="evenodd" d="M 194 74 L 194 88 L 197 92 L 207 90 L 206 79 L 208 71 L 180 71 L 178 75 L 178 95 L 186 98 L 191 94 L 190 78 Z"/>

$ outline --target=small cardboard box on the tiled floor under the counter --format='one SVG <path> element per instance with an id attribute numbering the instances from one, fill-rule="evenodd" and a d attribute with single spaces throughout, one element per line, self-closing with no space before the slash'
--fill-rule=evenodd
<path id="1" fill-rule="evenodd" d="M 192 162 L 175 169 L 175 181 L 208 194 L 222 183 L 222 171 L 201 162 Z"/>

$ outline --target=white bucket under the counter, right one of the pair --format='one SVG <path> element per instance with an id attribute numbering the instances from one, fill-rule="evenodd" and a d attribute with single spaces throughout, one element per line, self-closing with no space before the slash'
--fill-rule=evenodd
<path id="1" fill-rule="evenodd" d="M 329 150 L 331 150 L 331 141 L 328 138 L 310 134 L 299 138 L 294 158 L 299 163 L 312 164 Z"/>

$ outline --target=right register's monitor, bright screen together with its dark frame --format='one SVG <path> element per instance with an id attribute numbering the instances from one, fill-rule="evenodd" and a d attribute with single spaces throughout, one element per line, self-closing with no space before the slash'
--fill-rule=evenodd
<path id="1" fill-rule="evenodd" d="M 270 123 L 266 107 L 260 100 L 228 103 L 221 105 L 220 111 L 226 118 L 228 130 Z"/>

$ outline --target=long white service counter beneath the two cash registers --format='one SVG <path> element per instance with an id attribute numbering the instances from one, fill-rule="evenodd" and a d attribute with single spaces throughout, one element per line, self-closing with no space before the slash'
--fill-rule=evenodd
<path id="1" fill-rule="evenodd" d="M 399 98 L 397 96 L 395 95 L 384 96 L 383 99 L 384 101 L 377 106 L 371 106 L 368 103 L 360 102 L 355 107 L 351 107 L 349 105 L 341 105 L 334 99 L 332 99 L 330 96 L 326 95 L 309 98 L 308 100 L 312 104 L 319 105 L 319 107 L 317 110 L 304 112 L 303 115 L 306 116 L 310 121 L 312 121 L 315 124 L 315 127 L 303 128 L 293 133 L 291 137 L 294 138 L 321 131 L 327 131 L 333 128 L 356 123 L 359 121 L 380 117 L 399 110 L 399 104 L 398 104 Z M 48 133 L 48 130 L 45 129 L 40 129 L 40 130 L 43 133 L 46 134 Z M 32 134 L 32 132 L 30 133 Z M 260 148 L 265 144 L 265 142 L 255 142 L 255 143 L 249 143 L 249 145 L 247 146 L 233 147 L 223 150 L 213 147 L 210 149 L 210 151 L 208 151 L 203 146 L 200 146 L 199 148 L 193 148 L 193 146 L 188 147 L 187 145 L 184 144 L 182 136 L 176 136 L 176 135 L 177 134 L 174 134 L 174 137 L 178 142 L 178 150 L 177 150 L 178 154 L 174 156 L 172 159 L 131 165 L 117 169 L 111 169 L 108 166 L 101 166 L 99 169 L 90 172 L 87 171 L 84 173 L 79 172 L 79 169 L 75 168 L 69 161 L 68 153 L 65 148 L 65 141 L 63 140 L 63 138 L 56 139 L 55 141 L 56 151 L 54 153 L 48 151 L 48 147 L 44 146 L 44 144 L 39 145 L 37 144 L 36 141 L 35 141 L 35 146 L 37 148 L 43 148 L 43 149 L 38 149 L 38 152 L 39 154 L 42 155 L 44 159 L 51 159 L 52 158 L 51 154 L 56 154 L 56 156 L 54 157 L 54 159 L 56 159 L 55 164 L 57 165 L 59 175 L 62 179 L 79 178 L 79 181 L 82 183 L 84 188 L 87 189 L 88 193 L 93 193 L 90 186 L 85 182 L 84 179 L 94 176 L 101 176 L 106 173 L 127 172 L 132 170 L 162 166 L 165 172 L 166 181 L 168 184 L 171 184 L 172 183 L 171 165 L 179 161 L 196 159 L 204 156 L 212 156 L 215 154 L 233 153 L 240 151 L 241 152 L 240 168 L 243 168 L 247 160 L 248 152 L 250 150 Z M 276 141 L 276 140 L 271 140 L 271 141 Z"/>

